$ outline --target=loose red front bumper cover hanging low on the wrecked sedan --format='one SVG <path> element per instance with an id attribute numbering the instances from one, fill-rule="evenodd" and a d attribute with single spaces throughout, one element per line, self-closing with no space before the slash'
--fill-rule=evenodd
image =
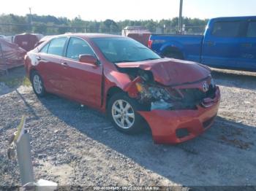
<path id="1" fill-rule="evenodd" d="M 195 138 L 211 127 L 217 116 L 220 102 L 219 87 L 215 98 L 197 110 L 152 110 L 140 111 L 148 122 L 156 144 L 178 144 Z"/>

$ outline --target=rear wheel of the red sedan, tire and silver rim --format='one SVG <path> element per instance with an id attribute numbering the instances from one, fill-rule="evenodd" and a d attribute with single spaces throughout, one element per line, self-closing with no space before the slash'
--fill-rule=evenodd
<path id="1" fill-rule="evenodd" d="M 45 86 L 42 81 L 42 77 L 39 75 L 37 71 L 33 71 L 31 74 L 31 83 L 34 90 L 34 93 L 38 97 L 43 97 L 46 95 Z"/>

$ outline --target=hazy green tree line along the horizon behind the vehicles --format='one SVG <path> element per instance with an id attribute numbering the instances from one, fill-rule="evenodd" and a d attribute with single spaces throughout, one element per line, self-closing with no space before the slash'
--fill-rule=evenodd
<path id="1" fill-rule="evenodd" d="M 183 18 L 186 31 L 191 34 L 203 32 L 208 20 L 198 18 Z M 27 33 L 39 33 L 44 35 L 64 34 L 67 32 L 110 33 L 121 34 L 126 26 L 145 26 L 152 33 L 161 31 L 165 34 L 173 34 L 178 29 L 178 17 L 162 20 L 82 20 L 80 16 L 74 19 L 67 17 L 54 17 L 52 15 L 0 15 L 0 34 L 14 35 Z"/>

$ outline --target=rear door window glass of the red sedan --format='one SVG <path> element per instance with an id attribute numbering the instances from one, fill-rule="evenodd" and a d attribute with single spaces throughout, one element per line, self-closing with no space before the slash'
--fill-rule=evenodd
<path id="1" fill-rule="evenodd" d="M 67 38 L 53 39 L 48 47 L 48 54 L 62 55 Z"/>

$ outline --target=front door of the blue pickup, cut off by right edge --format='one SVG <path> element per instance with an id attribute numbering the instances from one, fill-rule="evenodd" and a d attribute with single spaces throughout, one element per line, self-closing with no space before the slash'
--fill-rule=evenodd
<path id="1" fill-rule="evenodd" d="M 240 66 L 256 70 L 256 20 L 248 20 L 246 32 L 240 42 Z"/>

